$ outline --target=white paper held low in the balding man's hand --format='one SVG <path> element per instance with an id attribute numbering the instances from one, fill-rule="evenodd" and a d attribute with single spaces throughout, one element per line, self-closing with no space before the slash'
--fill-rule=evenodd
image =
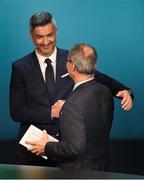
<path id="1" fill-rule="evenodd" d="M 25 146 L 26 148 L 32 147 L 30 144 L 26 144 L 25 141 L 37 141 L 42 138 L 43 131 L 37 128 L 34 125 L 30 125 L 22 139 L 19 141 L 19 144 Z M 51 142 L 58 142 L 58 140 L 51 135 L 48 134 L 49 141 Z M 42 156 L 43 158 L 47 159 L 47 156 Z"/>

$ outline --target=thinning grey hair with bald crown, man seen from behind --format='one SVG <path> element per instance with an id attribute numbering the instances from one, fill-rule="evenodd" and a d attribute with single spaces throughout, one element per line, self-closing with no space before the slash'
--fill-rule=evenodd
<path id="1" fill-rule="evenodd" d="M 79 73 L 93 75 L 96 71 L 97 52 L 89 44 L 74 45 L 69 52 L 68 60 L 75 64 Z"/>

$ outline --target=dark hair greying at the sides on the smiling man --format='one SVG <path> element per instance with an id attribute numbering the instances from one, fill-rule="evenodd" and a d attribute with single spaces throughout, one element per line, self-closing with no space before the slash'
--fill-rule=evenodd
<path id="1" fill-rule="evenodd" d="M 44 26 L 48 23 L 52 23 L 57 28 L 55 18 L 49 12 L 39 12 L 31 16 L 29 27 L 30 31 L 33 31 L 37 26 Z"/>

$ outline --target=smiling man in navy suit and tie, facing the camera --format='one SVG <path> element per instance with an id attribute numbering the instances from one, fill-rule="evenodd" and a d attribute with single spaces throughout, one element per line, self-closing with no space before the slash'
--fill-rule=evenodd
<path id="1" fill-rule="evenodd" d="M 57 27 L 54 18 L 48 12 L 33 15 L 30 19 L 30 34 L 35 45 L 35 51 L 12 64 L 10 81 L 10 114 L 14 121 L 20 123 L 17 137 L 17 163 L 31 165 L 52 165 L 52 162 L 36 157 L 19 144 L 28 127 L 33 124 L 40 129 L 46 129 L 51 135 L 59 133 L 59 121 L 51 106 L 59 99 L 68 96 L 73 88 L 73 81 L 67 73 L 66 61 L 68 51 L 56 47 Z M 45 83 L 47 64 L 51 61 L 55 88 L 52 94 Z M 122 98 L 122 107 L 129 110 L 132 107 L 130 89 L 120 82 L 95 72 L 98 82 L 108 86 L 113 96 Z M 55 166 L 55 164 L 54 164 Z"/>

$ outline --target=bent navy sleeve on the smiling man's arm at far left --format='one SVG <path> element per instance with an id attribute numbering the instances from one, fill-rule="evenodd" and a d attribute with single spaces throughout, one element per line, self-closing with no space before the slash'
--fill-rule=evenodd
<path id="1" fill-rule="evenodd" d="M 51 109 L 48 106 L 28 103 L 27 89 L 22 72 L 13 64 L 10 81 L 10 113 L 13 120 L 22 123 L 48 123 Z"/>

